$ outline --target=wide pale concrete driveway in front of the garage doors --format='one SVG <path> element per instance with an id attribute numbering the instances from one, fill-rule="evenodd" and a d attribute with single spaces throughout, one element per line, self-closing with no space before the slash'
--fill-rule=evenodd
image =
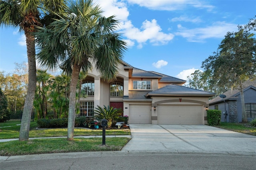
<path id="1" fill-rule="evenodd" d="M 130 130 L 123 151 L 256 155 L 256 136 L 207 125 L 130 124 Z"/>

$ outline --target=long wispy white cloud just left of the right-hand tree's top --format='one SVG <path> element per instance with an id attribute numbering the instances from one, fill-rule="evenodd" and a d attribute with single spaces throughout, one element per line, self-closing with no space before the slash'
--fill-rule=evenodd
<path id="1" fill-rule="evenodd" d="M 178 27 L 179 28 L 179 27 Z M 186 29 L 179 28 L 175 35 L 186 38 L 189 42 L 204 42 L 207 38 L 224 38 L 227 32 L 237 30 L 236 24 L 226 22 L 215 22 L 206 28 Z"/>

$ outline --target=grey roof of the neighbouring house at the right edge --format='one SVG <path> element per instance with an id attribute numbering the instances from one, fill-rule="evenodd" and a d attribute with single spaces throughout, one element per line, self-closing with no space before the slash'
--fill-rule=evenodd
<path id="1" fill-rule="evenodd" d="M 250 88 L 252 88 L 252 89 L 255 89 L 256 90 L 256 87 L 254 87 L 254 86 L 248 86 L 248 87 L 245 87 L 244 89 L 243 89 L 243 91 L 246 91 L 246 90 L 248 90 L 248 89 L 250 89 Z M 217 97 L 215 97 L 214 99 L 212 99 L 212 100 L 210 100 L 209 101 L 209 104 L 210 105 L 213 105 L 213 104 L 215 104 L 215 103 L 220 103 L 220 102 L 222 102 L 222 101 L 227 101 L 227 100 L 237 100 L 238 99 L 238 95 L 240 95 L 240 91 L 239 90 L 237 90 L 237 89 L 233 89 L 233 90 L 228 90 L 228 91 L 226 91 L 225 93 L 222 93 L 223 95 L 226 95 L 226 97 L 224 98 L 224 99 L 222 99 L 220 96 L 217 96 Z"/>

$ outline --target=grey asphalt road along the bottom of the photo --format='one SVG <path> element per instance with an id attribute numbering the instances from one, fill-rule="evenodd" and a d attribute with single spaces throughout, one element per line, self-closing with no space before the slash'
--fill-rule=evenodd
<path id="1" fill-rule="evenodd" d="M 32 155 L 31 155 L 32 156 Z M 1 170 L 255 170 L 255 156 L 228 154 L 96 154 L 13 159 Z"/>

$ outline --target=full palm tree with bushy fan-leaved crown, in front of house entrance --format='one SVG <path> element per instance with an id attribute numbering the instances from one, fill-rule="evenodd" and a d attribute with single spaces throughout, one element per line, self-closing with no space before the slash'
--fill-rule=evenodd
<path id="1" fill-rule="evenodd" d="M 92 69 L 92 62 L 105 81 L 116 78 L 118 63 L 126 49 L 120 35 L 114 33 L 118 21 L 114 16 L 103 17 L 102 10 L 92 0 L 71 1 L 66 17 L 52 22 L 47 28 L 38 27 L 38 60 L 54 69 L 60 66 L 71 75 L 68 140 L 74 137 L 76 87 L 80 71 Z"/>

